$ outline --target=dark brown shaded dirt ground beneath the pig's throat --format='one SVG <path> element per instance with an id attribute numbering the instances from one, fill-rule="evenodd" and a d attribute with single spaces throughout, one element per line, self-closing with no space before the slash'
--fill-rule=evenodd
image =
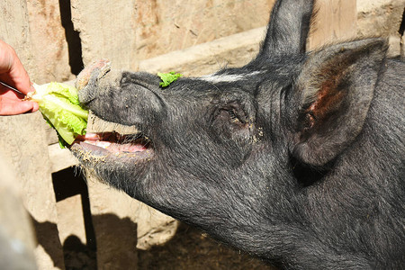
<path id="1" fill-rule="evenodd" d="M 164 246 L 139 251 L 138 254 L 139 270 L 275 270 L 259 259 L 224 246 L 201 230 L 185 224 L 181 224 L 175 237 Z"/>

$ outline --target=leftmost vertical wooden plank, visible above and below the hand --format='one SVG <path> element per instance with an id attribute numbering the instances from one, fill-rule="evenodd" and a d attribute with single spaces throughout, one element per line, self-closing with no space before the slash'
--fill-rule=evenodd
<path id="1" fill-rule="evenodd" d="M 25 0 L 0 2 L 0 39 L 14 47 L 24 67 L 35 70 L 31 32 Z M 64 269 L 58 238 L 55 195 L 49 171 L 49 156 L 40 112 L 0 117 L 0 151 L 11 160 L 31 215 L 38 245 L 35 257 L 39 269 Z"/>

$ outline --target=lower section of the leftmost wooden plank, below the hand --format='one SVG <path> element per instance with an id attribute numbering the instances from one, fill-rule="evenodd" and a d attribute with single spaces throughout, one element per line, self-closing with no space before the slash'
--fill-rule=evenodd
<path id="1" fill-rule="evenodd" d="M 39 245 L 39 269 L 64 269 L 48 144 L 40 112 L 0 117 L 0 152 L 10 160 Z"/>

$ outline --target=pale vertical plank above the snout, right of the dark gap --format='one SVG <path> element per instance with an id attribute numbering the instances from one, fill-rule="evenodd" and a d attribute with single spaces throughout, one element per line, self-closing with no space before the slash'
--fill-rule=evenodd
<path id="1" fill-rule="evenodd" d="M 80 31 L 83 62 L 108 58 L 120 68 L 135 68 L 135 0 L 71 0 L 72 21 Z"/>

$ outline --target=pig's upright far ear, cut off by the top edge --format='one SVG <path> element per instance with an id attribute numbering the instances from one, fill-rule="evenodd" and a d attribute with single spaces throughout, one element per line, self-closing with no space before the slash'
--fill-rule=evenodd
<path id="1" fill-rule="evenodd" d="M 280 57 L 304 53 L 312 7 L 313 1 L 310 0 L 276 1 L 259 56 Z"/>

